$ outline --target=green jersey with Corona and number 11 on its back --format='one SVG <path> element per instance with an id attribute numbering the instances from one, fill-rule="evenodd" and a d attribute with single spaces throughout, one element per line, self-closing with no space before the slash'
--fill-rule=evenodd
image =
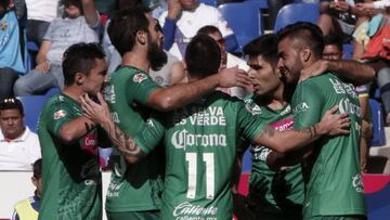
<path id="1" fill-rule="evenodd" d="M 136 143 L 145 153 L 164 137 L 166 176 L 161 219 L 232 219 L 236 143 L 263 128 L 245 104 L 214 92 L 158 120 Z"/>

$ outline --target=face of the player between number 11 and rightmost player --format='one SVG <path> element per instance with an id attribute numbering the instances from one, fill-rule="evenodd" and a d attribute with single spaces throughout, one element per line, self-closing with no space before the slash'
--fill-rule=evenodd
<path id="1" fill-rule="evenodd" d="M 280 72 L 265 61 L 262 55 L 250 56 L 248 74 L 256 95 L 266 95 L 274 92 L 282 83 Z"/>

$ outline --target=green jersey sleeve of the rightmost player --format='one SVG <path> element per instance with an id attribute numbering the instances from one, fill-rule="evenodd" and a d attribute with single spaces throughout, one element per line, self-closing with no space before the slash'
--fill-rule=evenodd
<path id="1" fill-rule="evenodd" d="M 295 129 L 306 128 L 321 120 L 321 109 L 323 108 L 325 98 L 322 93 L 322 88 L 318 88 L 309 80 L 298 85 L 292 98 Z"/>

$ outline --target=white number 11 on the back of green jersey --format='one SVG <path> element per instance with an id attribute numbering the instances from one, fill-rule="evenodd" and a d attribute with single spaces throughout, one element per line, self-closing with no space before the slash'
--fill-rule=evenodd
<path id="1" fill-rule="evenodd" d="M 213 199 L 214 196 L 214 161 L 213 153 L 203 153 L 203 161 L 206 164 L 206 198 Z M 185 153 L 188 163 L 188 189 L 187 198 L 195 198 L 197 182 L 197 153 Z M 200 170 L 202 171 L 202 170 Z"/>

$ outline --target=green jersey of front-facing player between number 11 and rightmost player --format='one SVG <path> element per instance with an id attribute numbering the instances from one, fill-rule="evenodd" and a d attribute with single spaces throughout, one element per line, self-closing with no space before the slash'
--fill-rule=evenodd
<path id="1" fill-rule="evenodd" d="M 261 98 L 258 98 L 261 99 Z M 290 105 L 271 109 L 257 104 L 255 95 L 245 99 L 251 112 L 264 125 L 278 131 L 294 129 L 294 114 Z M 255 212 L 281 213 L 289 219 L 299 218 L 302 212 L 304 183 L 300 165 L 275 172 L 266 165 L 266 155 L 272 150 L 265 146 L 251 146 L 252 167 L 249 179 L 249 199 Z"/>

